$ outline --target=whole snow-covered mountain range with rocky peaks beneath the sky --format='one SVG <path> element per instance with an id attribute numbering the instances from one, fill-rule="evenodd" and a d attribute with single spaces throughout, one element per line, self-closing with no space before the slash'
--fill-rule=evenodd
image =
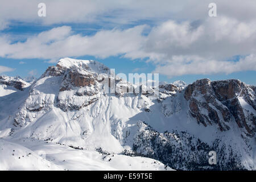
<path id="1" fill-rule="evenodd" d="M 14 143 L 25 151 L 47 151 L 44 162 L 56 168 L 59 156 L 65 155 L 53 162 L 53 145 L 65 148 L 59 151 L 72 147 L 72 152 L 84 152 L 86 160 L 92 156 L 99 166 L 106 165 L 106 156 L 118 156 L 107 164 L 115 169 L 131 169 L 129 160 L 136 166 L 135 156 L 145 157 L 150 169 L 164 169 L 164 164 L 186 170 L 256 169 L 255 86 L 203 79 L 159 88 L 141 85 L 141 93 L 136 89 L 97 61 L 61 59 L 31 86 L 0 93 L 0 137 L 9 148 Z M 158 90 L 158 98 L 152 99 Z M 216 165 L 208 163 L 209 151 L 217 152 Z M 105 158 L 100 160 L 98 154 Z M 38 155 L 35 158 L 38 161 Z M 159 165 L 154 167 L 148 158 L 159 160 Z"/>

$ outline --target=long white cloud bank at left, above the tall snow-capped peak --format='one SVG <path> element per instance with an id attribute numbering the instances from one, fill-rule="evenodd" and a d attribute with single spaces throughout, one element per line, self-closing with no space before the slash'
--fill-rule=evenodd
<path id="1" fill-rule="evenodd" d="M 140 49 L 144 42 L 141 35 L 145 26 L 136 26 L 126 30 L 102 30 L 93 36 L 73 34 L 71 27 L 62 26 L 29 37 L 26 42 L 11 44 L 3 38 L 0 56 L 13 59 L 93 55 L 108 57 L 133 52 Z"/>

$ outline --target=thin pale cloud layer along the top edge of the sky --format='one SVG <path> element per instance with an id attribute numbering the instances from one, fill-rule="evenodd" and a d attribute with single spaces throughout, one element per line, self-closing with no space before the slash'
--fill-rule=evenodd
<path id="1" fill-rule="evenodd" d="M 0 22 L 18 20 L 20 22 L 56 23 L 97 23 L 129 24 L 138 20 L 197 20 L 208 17 L 208 5 L 212 0 L 44 0 L 46 17 L 38 16 L 38 4 L 41 0 L 2 1 Z M 217 15 L 229 16 L 238 20 L 255 19 L 256 1 L 254 0 L 214 0 Z M 104 23 L 105 22 L 105 23 Z M 110 24 L 110 25 L 109 25 Z"/>

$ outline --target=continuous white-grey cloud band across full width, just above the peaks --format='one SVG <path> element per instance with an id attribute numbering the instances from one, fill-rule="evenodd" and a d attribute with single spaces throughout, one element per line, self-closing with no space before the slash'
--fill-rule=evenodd
<path id="1" fill-rule="evenodd" d="M 168 20 L 153 27 L 144 36 L 142 33 L 146 27 L 114 28 L 98 31 L 92 36 L 82 36 L 72 32 L 71 27 L 62 26 L 14 44 L 6 36 L 0 39 L 0 56 L 50 59 L 49 62 L 53 63 L 60 57 L 92 55 L 105 58 L 123 55 L 131 59 L 148 58 L 148 61 L 156 64 L 155 72 L 167 76 L 256 70 L 250 64 L 245 64 L 256 63 L 254 21 L 245 23 L 223 16 L 208 18 L 195 26 L 193 22 Z M 250 61 L 225 61 L 235 55 L 250 55 Z"/>

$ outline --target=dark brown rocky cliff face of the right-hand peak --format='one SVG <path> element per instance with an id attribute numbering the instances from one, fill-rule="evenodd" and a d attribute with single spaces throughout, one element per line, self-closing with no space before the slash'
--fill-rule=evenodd
<path id="1" fill-rule="evenodd" d="M 247 136 L 255 135 L 255 89 L 239 80 L 197 80 L 184 90 L 189 113 L 204 126 L 217 125 L 221 131 L 230 129 L 234 118 Z"/>

